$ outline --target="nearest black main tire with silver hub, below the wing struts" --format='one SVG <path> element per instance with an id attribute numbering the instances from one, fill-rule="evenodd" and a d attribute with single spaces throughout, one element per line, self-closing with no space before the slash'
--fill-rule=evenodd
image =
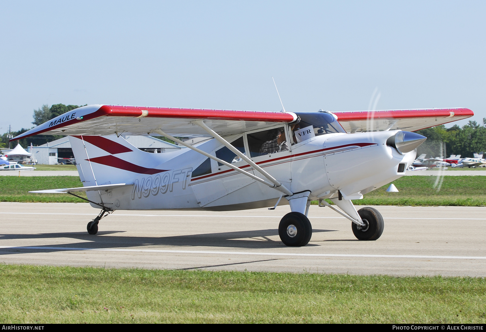
<path id="1" fill-rule="evenodd" d="M 286 246 L 303 247 L 311 240 L 311 222 L 300 212 L 290 212 L 280 220 L 278 235 Z"/>

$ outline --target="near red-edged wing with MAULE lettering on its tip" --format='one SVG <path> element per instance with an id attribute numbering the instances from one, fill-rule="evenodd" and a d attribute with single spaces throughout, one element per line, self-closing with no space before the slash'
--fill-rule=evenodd
<path id="1" fill-rule="evenodd" d="M 191 108 L 89 105 L 76 108 L 43 123 L 12 140 L 36 134 L 48 135 L 147 135 L 153 130 L 175 136 L 207 136 L 191 122 L 205 123 L 222 136 L 293 122 L 294 113 L 204 110 Z"/>

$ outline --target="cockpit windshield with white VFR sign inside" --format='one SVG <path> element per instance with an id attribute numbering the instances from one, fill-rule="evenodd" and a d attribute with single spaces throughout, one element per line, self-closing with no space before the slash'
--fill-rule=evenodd
<path id="1" fill-rule="evenodd" d="M 294 143 L 327 133 L 346 133 L 334 116 L 326 112 L 297 113 L 300 122 L 292 128 Z"/>

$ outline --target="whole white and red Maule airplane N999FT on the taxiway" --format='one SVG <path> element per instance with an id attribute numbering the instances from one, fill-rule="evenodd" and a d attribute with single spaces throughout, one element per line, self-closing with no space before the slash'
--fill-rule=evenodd
<path id="1" fill-rule="evenodd" d="M 89 105 L 12 140 L 69 135 L 84 186 L 34 192 L 85 191 L 91 206 L 102 210 L 87 224 L 90 234 L 115 210 L 290 204 L 278 233 L 285 245 L 304 246 L 312 235 L 307 213 L 314 199 L 349 219 L 358 239 L 378 239 L 381 214 L 371 207 L 356 211 L 352 200 L 405 174 L 426 139 L 412 131 L 470 116 L 466 108 L 292 113 Z M 123 139 L 151 134 L 187 149 L 149 153 Z M 176 136 L 211 139 L 191 146 Z"/>

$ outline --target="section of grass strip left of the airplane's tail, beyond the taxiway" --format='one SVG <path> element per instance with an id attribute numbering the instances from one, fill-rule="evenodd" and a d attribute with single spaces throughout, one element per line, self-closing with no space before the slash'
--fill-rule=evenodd
<path id="1" fill-rule="evenodd" d="M 54 165 L 55 166 L 55 165 Z M 31 194 L 29 191 L 82 187 L 79 176 L 0 176 L 0 202 L 86 202 L 69 194 Z M 76 193 L 86 198 L 84 192 Z"/>

